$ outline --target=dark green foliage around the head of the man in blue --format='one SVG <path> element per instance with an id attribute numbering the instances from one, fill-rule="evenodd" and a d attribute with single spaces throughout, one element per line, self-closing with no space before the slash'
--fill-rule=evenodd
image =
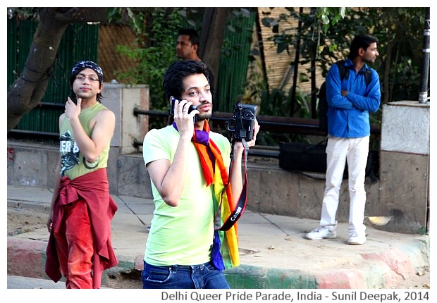
<path id="1" fill-rule="evenodd" d="M 263 18 L 270 26 L 277 52 L 297 47 L 300 40 L 300 64 L 316 58 L 326 75 L 331 65 L 345 58 L 355 35 L 367 32 L 378 38 L 380 56 L 372 66 L 381 76 L 382 101 L 417 100 L 420 84 L 421 48 L 425 8 L 316 8 L 300 13 L 288 8 L 279 18 Z M 302 29 L 279 23 L 300 20 Z M 281 23 L 282 24 L 282 23 Z M 309 70 L 308 70 L 309 73 Z"/>

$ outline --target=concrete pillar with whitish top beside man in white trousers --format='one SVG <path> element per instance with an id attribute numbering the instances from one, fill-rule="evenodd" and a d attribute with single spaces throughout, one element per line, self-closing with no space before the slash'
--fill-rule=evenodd
<path id="1" fill-rule="evenodd" d="M 398 101 L 383 106 L 381 125 L 382 214 L 393 216 L 383 230 L 429 230 L 429 102 Z"/>

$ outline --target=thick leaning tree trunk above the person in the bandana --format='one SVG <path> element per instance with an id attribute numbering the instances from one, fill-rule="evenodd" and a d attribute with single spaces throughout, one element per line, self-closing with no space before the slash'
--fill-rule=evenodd
<path id="1" fill-rule="evenodd" d="M 25 68 L 8 89 L 8 132 L 44 97 L 59 44 L 68 25 L 99 21 L 102 16 L 106 18 L 105 8 L 39 9 L 39 23 Z"/>

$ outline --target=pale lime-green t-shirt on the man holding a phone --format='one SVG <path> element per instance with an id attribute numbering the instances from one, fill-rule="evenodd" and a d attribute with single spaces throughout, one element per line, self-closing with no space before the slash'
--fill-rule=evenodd
<path id="1" fill-rule="evenodd" d="M 230 165 L 230 143 L 226 137 L 210 132 L 209 137 L 221 150 L 226 167 Z M 178 146 L 179 132 L 168 125 L 150 130 L 144 137 L 144 164 L 173 157 Z M 144 260 L 155 266 L 204 264 L 211 259 L 214 236 L 213 185 L 206 186 L 199 156 L 194 144 L 182 197 L 176 207 L 168 206 L 152 183 L 154 216 L 147 238 Z"/>

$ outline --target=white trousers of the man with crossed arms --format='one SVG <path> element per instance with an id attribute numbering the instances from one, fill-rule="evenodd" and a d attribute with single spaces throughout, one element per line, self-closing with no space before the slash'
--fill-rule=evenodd
<path id="1" fill-rule="evenodd" d="M 349 232 L 365 235 L 364 208 L 366 206 L 366 164 L 369 136 L 360 138 L 329 137 L 326 146 L 326 186 L 321 208 L 320 225 L 337 225 L 340 186 L 347 161 L 349 185 Z"/>

